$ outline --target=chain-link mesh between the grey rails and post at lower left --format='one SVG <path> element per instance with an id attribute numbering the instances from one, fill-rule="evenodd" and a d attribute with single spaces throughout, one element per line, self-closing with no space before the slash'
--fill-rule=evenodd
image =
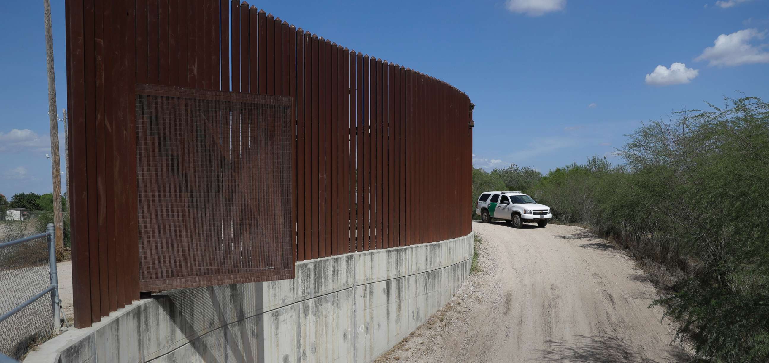
<path id="1" fill-rule="evenodd" d="M 5 243 L 9 241 L 0 241 Z M 0 248 L 0 316 L 48 289 L 48 238 Z M 0 322 L 0 351 L 20 358 L 53 332 L 51 292 Z"/>

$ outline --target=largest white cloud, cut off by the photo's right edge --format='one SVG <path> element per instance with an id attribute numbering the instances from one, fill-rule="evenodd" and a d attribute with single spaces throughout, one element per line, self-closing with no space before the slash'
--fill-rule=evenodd
<path id="1" fill-rule="evenodd" d="M 718 35 L 712 47 L 705 48 L 694 61 L 708 61 L 708 65 L 735 66 L 740 64 L 767 63 L 769 52 L 762 48 L 766 45 L 751 45 L 752 39 L 764 39 L 766 31 L 756 28 L 735 31 L 730 35 Z"/>

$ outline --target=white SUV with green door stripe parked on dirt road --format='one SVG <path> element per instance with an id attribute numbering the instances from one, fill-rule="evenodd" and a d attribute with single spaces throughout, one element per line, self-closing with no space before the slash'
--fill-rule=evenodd
<path id="1" fill-rule="evenodd" d="M 534 222 L 541 227 L 547 226 L 552 216 L 550 212 L 550 207 L 538 204 L 531 196 L 508 191 L 481 194 L 475 210 L 484 223 L 491 222 L 492 218 L 504 219 L 515 228 Z"/>

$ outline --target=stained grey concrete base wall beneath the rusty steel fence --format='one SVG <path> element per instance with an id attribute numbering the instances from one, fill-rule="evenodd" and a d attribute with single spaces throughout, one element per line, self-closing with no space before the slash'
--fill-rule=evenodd
<path id="1" fill-rule="evenodd" d="M 296 278 L 178 289 L 45 342 L 25 362 L 368 362 L 451 299 L 473 234 L 298 262 Z"/>

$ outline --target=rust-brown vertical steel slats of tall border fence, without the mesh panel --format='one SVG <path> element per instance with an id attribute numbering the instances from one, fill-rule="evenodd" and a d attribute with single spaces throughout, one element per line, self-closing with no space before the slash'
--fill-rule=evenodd
<path id="1" fill-rule="evenodd" d="M 266 218 L 294 226 L 297 261 L 471 229 L 461 213 L 471 193 L 471 103 L 442 81 L 348 51 L 239 0 L 72 0 L 67 33 L 78 327 L 146 289 L 139 284 L 136 84 L 293 99 L 292 118 L 278 127 L 293 135 L 291 213 Z M 260 135 L 241 121 L 258 114 L 229 117 L 222 127 L 232 140 Z M 281 167 L 265 155 L 229 162 L 251 171 Z M 259 185 L 260 200 L 281 187 L 263 173 L 244 180 Z M 441 206 L 422 208 L 434 200 Z M 217 208 L 227 213 L 224 203 Z M 203 227 L 213 233 L 214 224 Z"/>

